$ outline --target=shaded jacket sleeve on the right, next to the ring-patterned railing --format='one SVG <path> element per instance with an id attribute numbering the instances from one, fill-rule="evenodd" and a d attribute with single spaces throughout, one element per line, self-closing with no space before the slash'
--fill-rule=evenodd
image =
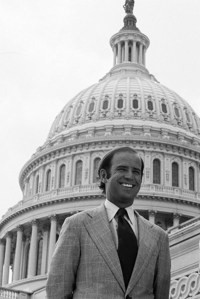
<path id="1" fill-rule="evenodd" d="M 154 274 L 154 299 L 168 299 L 170 291 L 170 248 L 167 232 L 161 241 L 160 252 L 156 261 Z"/>

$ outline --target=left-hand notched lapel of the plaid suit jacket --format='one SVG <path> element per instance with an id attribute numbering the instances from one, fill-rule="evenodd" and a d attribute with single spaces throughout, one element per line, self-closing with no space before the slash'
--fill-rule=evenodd
<path id="1" fill-rule="evenodd" d="M 88 214 L 91 218 L 84 220 L 84 225 L 125 293 L 120 261 L 104 203 L 98 208 L 90 210 Z"/>

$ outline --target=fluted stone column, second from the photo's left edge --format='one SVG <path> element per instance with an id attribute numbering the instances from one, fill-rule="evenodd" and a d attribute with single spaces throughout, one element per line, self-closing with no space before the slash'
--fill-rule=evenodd
<path id="1" fill-rule="evenodd" d="M 5 245 L 4 272 L 3 272 L 2 285 L 7 285 L 9 279 L 9 269 L 10 269 L 10 262 L 11 262 L 11 241 L 12 241 L 11 231 L 8 231 L 5 237 L 6 237 L 6 245 Z"/>

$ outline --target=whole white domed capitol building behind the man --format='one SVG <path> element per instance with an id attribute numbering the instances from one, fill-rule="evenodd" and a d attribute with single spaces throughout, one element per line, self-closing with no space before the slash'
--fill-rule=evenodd
<path id="1" fill-rule="evenodd" d="M 196 277 L 196 247 L 189 242 L 192 236 L 197 242 L 198 233 L 192 230 L 200 227 L 195 226 L 200 220 L 199 117 L 149 74 L 149 39 L 136 27 L 133 11 L 127 12 L 124 27 L 111 37 L 110 45 L 111 70 L 64 106 L 46 142 L 20 172 L 23 199 L 0 221 L 0 282 L 5 290 L 28 290 L 45 298 L 48 268 L 64 219 L 105 200 L 96 181 L 97 165 L 117 146 L 135 148 L 144 160 L 134 207 L 169 233 L 171 294 L 182 289 L 181 277 Z M 180 267 L 186 248 L 189 258 Z M 184 280 L 186 289 L 193 280 L 188 281 L 187 285 Z"/>

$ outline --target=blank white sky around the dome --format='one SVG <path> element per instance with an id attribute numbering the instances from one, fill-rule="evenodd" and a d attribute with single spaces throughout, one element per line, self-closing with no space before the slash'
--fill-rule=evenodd
<path id="1" fill-rule="evenodd" d="M 112 67 L 125 0 L 1 0 L 0 216 L 22 200 L 18 175 L 55 116 Z M 199 0 L 135 0 L 146 68 L 200 115 Z"/>

